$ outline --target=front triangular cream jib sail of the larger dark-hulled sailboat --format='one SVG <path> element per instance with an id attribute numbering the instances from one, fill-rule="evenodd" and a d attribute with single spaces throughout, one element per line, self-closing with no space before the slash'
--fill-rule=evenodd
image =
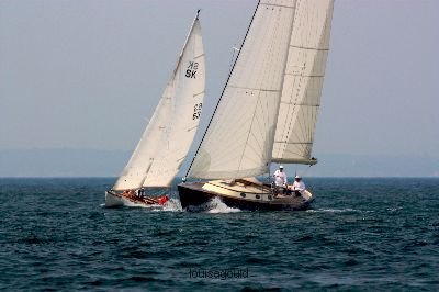
<path id="1" fill-rule="evenodd" d="M 268 171 L 295 1 L 260 1 L 189 176 L 244 178 Z"/>

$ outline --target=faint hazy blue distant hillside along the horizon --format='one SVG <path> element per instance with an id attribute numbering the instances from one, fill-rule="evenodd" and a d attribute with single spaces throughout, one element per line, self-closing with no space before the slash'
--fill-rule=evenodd
<path id="1" fill-rule="evenodd" d="M 116 177 L 130 151 L 90 149 L 0 150 L 0 177 Z M 308 177 L 439 177 L 439 157 L 320 155 L 313 167 L 288 166 Z M 187 170 L 188 161 L 182 171 Z M 183 173 L 179 173 L 183 175 Z"/>

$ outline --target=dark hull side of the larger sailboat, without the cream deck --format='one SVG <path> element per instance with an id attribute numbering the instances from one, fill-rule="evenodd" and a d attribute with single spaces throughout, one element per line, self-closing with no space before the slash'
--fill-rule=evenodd
<path id="1" fill-rule="evenodd" d="M 246 200 L 236 196 L 224 195 L 202 189 L 204 182 L 189 182 L 178 186 L 181 206 L 187 211 L 199 211 L 205 206 L 212 199 L 219 200 L 229 207 L 237 207 L 245 211 L 303 211 L 307 210 L 313 201 L 302 198 L 291 199 L 290 202 L 261 202 Z"/>

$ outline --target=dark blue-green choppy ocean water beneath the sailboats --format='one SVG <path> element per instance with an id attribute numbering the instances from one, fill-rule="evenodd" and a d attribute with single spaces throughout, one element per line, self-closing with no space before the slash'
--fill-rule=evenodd
<path id="1" fill-rule="evenodd" d="M 0 290 L 439 290 L 439 179 L 306 179 L 305 212 L 105 209 L 114 179 L 0 179 Z"/>

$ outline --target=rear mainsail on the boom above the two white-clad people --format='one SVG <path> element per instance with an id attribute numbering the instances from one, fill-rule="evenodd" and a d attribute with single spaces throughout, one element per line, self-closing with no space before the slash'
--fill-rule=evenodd
<path id="1" fill-rule="evenodd" d="M 333 0 L 299 0 L 285 69 L 272 161 L 311 159 L 326 58 Z"/>

